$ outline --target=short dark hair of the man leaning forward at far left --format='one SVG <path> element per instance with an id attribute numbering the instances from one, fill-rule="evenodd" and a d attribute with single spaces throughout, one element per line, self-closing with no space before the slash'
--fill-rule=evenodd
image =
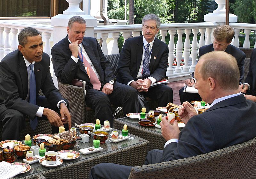
<path id="1" fill-rule="evenodd" d="M 27 37 L 34 37 L 37 35 L 41 35 L 38 30 L 33 27 L 27 27 L 22 29 L 18 35 L 19 44 L 23 47 L 28 43 Z"/>

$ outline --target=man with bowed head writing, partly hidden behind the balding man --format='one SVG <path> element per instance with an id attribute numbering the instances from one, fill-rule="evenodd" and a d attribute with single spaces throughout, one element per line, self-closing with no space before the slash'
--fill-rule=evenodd
<path id="1" fill-rule="evenodd" d="M 239 72 L 240 72 L 239 81 L 241 81 L 244 76 L 243 67 L 244 67 L 245 54 L 242 50 L 230 44 L 234 35 L 235 35 L 235 31 L 229 25 L 220 25 L 216 27 L 216 29 L 213 31 L 213 37 L 214 37 L 213 43 L 210 45 L 200 47 L 198 58 L 200 58 L 203 54 L 206 54 L 212 51 L 224 51 L 228 54 L 231 54 L 236 59 Z M 187 79 L 185 83 L 187 86 L 193 86 L 195 84 L 194 80 L 192 80 L 192 83 L 191 83 L 190 79 Z M 197 93 L 186 93 L 186 92 L 183 92 L 183 90 L 184 90 L 184 87 L 179 90 L 181 104 L 184 101 L 188 101 L 188 102 L 194 101 L 194 100 L 201 101 L 201 97 Z"/>

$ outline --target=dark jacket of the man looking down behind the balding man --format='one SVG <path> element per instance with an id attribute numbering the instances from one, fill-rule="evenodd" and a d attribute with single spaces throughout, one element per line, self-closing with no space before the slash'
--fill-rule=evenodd
<path id="1" fill-rule="evenodd" d="M 200 47 L 199 52 L 198 52 L 198 55 L 199 55 L 198 58 L 200 58 L 203 54 L 206 54 L 206 53 L 212 52 L 212 51 L 214 51 L 214 48 L 213 48 L 212 44 Z M 231 44 L 228 45 L 225 52 L 228 53 L 228 54 L 231 54 L 233 57 L 235 57 L 235 59 L 237 61 L 238 68 L 239 68 L 239 72 L 240 72 L 239 81 L 241 81 L 244 77 L 245 53 L 242 50 L 240 50 L 239 48 L 237 48 L 237 47 L 235 47 Z"/>

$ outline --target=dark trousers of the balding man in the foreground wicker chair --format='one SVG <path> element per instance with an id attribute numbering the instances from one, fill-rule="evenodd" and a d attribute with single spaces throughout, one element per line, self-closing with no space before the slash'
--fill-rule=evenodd
<path id="1" fill-rule="evenodd" d="M 145 165 L 159 163 L 161 162 L 161 158 L 163 156 L 163 150 L 151 150 L 148 152 Z M 117 170 L 115 170 L 117 169 Z M 130 175 L 132 167 L 119 165 L 114 163 L 100 163 L 92 167 L 89 178 L 90 179 L 127 179 Z"/>

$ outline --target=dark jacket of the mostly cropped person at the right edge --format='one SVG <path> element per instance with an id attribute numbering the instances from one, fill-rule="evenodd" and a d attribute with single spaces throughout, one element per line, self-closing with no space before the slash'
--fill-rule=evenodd
<path id="1" fill-rule="evenodd" d="M 246 76 L 245 82 L 250 84 L 252 95 L 256 95 L 256 48 L 252 51 L 250 58 L 249 73 Z"/>

